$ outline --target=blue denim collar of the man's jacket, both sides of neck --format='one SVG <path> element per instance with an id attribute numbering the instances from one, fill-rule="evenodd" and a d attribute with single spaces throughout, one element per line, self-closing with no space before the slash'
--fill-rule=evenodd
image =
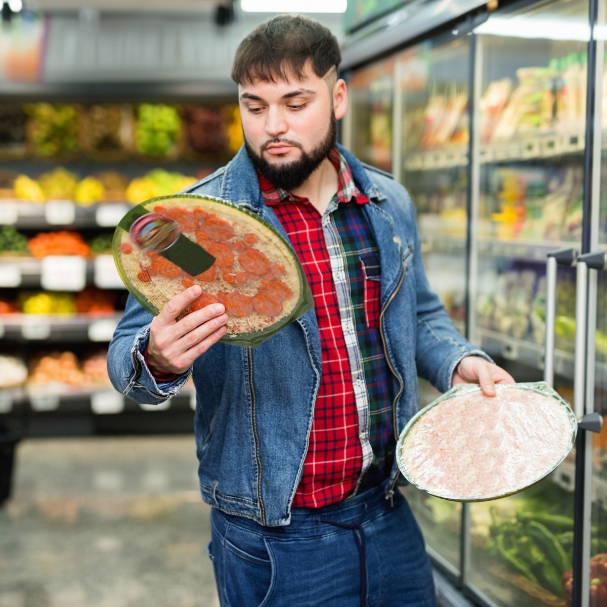
<path id="1" fill-rule="evenodd" d="M 362 163 L 341 145 L 337 144 L 337 148 L 344 154 L 352 171 L 354 183 L 356 183 L 361 192 L 375 202 L 385 200 L 385 195 L 370 180 Z M 240 148 L 236 156 L 226 166 L 220 197 L 225 200 L 231 200 L 231 202 L 237 205 L 246 206 L 256 213 L 261 213 L 262 207 L 265 206 L 262 193 L 259 189 L 257 171 L 246 154 L 245 146 Z"/>

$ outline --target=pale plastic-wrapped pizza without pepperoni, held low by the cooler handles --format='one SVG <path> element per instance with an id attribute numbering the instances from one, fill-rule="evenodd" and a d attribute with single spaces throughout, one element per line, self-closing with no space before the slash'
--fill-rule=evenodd
<path id="1" fill-rule="evenodd" d="M 422 409 L 399 437 L 396 457 L 410 483 L 456 501 L 494 500 L 548 475 L 572 449 L 577 421 L 548 384 L 452 388 Z"/>

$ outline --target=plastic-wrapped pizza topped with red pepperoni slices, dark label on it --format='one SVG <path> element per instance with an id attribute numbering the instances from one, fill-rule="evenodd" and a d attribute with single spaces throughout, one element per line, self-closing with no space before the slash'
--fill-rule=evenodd
<path id="1" fill-rule="evenodd" d="M 219 198 L 176 195 L 135 206 L 115 231 L 114 259 L 152 314 L 200 285 L 202 295 L 181 317 L 222 302 L 222 341 L 231 344 L 259 345 L 314 305 L 287 240 L 259 215 Z"/>

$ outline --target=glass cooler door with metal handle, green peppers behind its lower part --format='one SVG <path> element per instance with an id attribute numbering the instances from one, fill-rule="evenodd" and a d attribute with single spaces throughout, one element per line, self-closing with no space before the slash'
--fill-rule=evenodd
<path id="1" fill-rule="evenodd" d="M 546 254 L 582 242 L 588 13 L 525 2 L 475 30 L 469 334 L 516 381 L 543 379 Z M 557 276 L 554 387 L 573 404 L 575 269 Z M 574 462 L 469 505 L 464 583 L 487 605 L 566 606 Z"/>

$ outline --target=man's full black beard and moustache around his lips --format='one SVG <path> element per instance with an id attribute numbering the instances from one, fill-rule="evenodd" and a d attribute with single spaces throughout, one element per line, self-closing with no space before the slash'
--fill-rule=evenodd
<path id="1" fill-rule="evenodd" d="M 261 154 L 257 154 L 245 138 L 246 153 L 251 158 L 251 162 L 257 170 L 265 177 L 275 188 L 287 190 L 288 192 L 299 188 L 310 175 L 316 171 L 320 163 L 327 158 L 331 149 L 333 149 L 337 140 L 337 121 L 335 115 L 331 112 L 329 129 L 327 136 L 321 141 L 316 148 L 309 154 L 304 152 L 301 145 L 295 141 L 276 138 L 266 141 L 260 149 Z M 292 160 L 286 163 L 273 164 L 268 162 L 263 157 L 263 151 L 266 146 L 271 143 L 287 143 L 296 146 L 301 150 L 301 155 L 297 160 Z"/>

